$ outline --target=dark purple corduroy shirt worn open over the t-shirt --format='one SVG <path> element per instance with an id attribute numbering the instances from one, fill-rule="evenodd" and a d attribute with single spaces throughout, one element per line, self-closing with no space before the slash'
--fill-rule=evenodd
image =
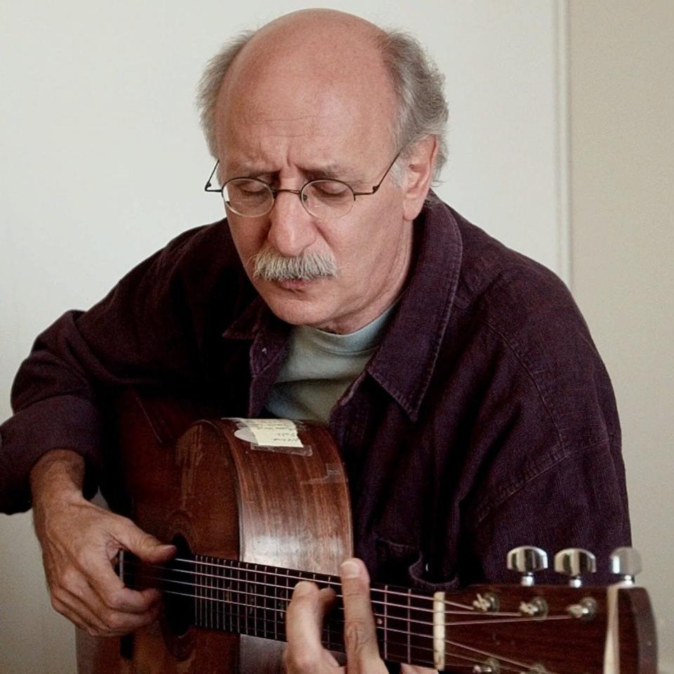
<path id="1" fill-rule="evenodd" d="M 37 338 L 0 427 L 0 510 L 30 507 L 29 470 L 52 448 L 84 455 L 95 487 L 101 407 L 120 387 L 265 415 L 289 330 L 246 278 L 226 221 L 178 236 Z M 415 221 L 395 314 L 329 428 L 355 550 L 378 581 L 513 582 L 517 545 L 586 547 L 607 581 L 609 552 L 630 543 L 614 396 L 579 310 L 548 269 L 447 205 Z"/>

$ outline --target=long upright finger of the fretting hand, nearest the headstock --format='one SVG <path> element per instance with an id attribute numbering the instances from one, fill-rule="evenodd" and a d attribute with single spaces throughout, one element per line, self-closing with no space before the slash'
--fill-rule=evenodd
<path id="1" fill-rule="evenodd" d="M 370 604 L 367 569 L 360 559 L 347 559 L 340 566 L 344 595 L 344 645 L 349 671 L 383 667 L 377 645 Z"/>

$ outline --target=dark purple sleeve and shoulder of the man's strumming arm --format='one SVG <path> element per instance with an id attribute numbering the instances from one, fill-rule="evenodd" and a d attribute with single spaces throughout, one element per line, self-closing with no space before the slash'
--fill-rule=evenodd
<path id="1" fill-rule="evenodd" d="M 65 313 L 37 337 L 15 378 L 14 415 L 0 426 L 0 512 L 30 507 L 30 469 L 55 448 L 84 457 L 86 493 L 95 491 L 111 391 L 199 378 L 213 328 L 209 306 L 233 259 L 223 231 L 216 223 L 183 233 L 101 302 Z"/>

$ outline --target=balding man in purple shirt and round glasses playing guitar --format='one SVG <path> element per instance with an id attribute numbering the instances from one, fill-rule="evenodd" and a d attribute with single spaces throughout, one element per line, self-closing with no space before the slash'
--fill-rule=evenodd
<path id="1" fill-rule="evenodd" d="M 605 559 L 629 543 L 612 391 L 566 289 L 425 205 L 444 160 L 441 83 L 414 41 L 326 10 L 213 60 L 202 119 L 226 223 L 180 235 L 41 335 L 1 428 L 2 509 L 34 508 L 53 605 L 74 623 L 117 635 L 154 620 L 157 592 L 124 588 L 110 559 L 174 553 L 83 496 L 96 403 L 128 384 L 329 425 L 364 562 L 343 566 L 352 671 L 384 668 L 368 571 L 453 589 L 509 579 L 515 545 Z M 333 668 L 328 602 L 298 585 L 289 671 Z"/>

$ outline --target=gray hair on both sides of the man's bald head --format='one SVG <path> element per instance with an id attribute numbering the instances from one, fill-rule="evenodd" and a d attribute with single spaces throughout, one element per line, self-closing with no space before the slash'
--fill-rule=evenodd
<path id="1" fill-rule="evenodd" d="M 220 86 L 234 58 L 255 33 L 247 30 L 228 41 L 211 58 L 199 81 L 197 107 L 201 128 L 213 157 L 218 156 L 216 103 Z M 377 46 L 390 73 L 398 101 L 393 124 L 395 147 L 404 160 L 415 143 L 425 136 L 436 136 L 438 149 L 433 178 L 437 182 L 447 160 L 445 131 L 448 111 L 444 98 L 444 76 L 419 41 L 409 33 L 383 30 L 378 36 Z"/>

